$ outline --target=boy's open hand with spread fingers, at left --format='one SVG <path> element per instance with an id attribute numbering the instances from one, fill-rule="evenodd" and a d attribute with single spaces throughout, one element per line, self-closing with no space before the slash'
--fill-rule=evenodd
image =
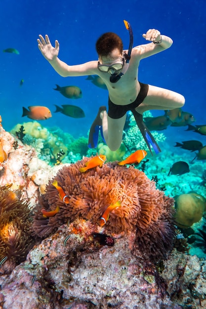
<path id="1" fill-rule="evenodd" d="M 59 42 L 55 40 L 55 47 L 53 47 L 47 35 L 45 35 L 45 40 L 41 35 L 39 37 L 40 39 L 37 39 L 37 41 L 41 54 L 48 61 L 55 60 L 59 53 Z"/>

